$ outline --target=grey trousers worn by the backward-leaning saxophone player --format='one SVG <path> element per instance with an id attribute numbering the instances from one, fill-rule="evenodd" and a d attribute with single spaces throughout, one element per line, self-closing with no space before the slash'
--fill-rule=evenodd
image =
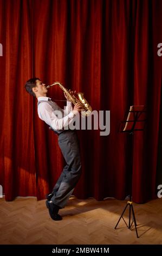
<path id="1" fill-rule="evenodd" d="M 53 188 L 54 196 L 51 201 L 64 208 L 81 176 L 81 158 L 75 131 L 67 130 L 60 133 L 58 142 L 67 164 Z"/>

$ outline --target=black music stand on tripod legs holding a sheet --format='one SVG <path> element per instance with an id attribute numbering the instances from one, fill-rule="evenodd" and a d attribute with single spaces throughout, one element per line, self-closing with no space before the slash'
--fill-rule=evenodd
<path id="1" fill-rule="evenodd" d="M 131 155 L 131 166 L 133 166 L 133 142 L 134 142 L 134 131 L 143 131 L 145 128 L 146 124 L 146 110 L 144 106 L 131 106 L 127 115 L 127 120 L 126 121 L 121 121 L 120 126 L 119 126 L 119 132 L 127 132 L 129 135 L 131 135 L 131 147 L 132 147 L 132 155 Z M 124 211 L 122 212 L 119 221 L 115 225 L 115 229 L 117 228 L 121 218 L 124 220 L 124 213 L 129 206 L 129 221 L 128 225 L 126 221 L 124 220 L 125 224 L 127 225 L 127 228 L 131 230 L 132 224 L 134 222 L 135 225 L 135 231 L 138 236 L 137 232 L 137 222 L 135 220 L 135 214 L 134 214 L 134 209 L 133 209 L 133 202 L 132 202 L 132 168 L 131 168 L 131 173 L 130 173 L 130 191 L 129 191 L 129 200 L 124 208 Z M 132 222 L 131 222 L 131 213 L 132 213 Z"/>

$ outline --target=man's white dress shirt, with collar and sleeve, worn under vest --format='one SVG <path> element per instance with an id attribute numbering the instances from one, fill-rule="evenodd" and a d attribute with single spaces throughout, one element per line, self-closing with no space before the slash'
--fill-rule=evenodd
<path id="1" fill-rule="evenodd" d="M 48 101 L 48 99 L 51 100 L 49 97 L 37 98 L 38 101 Z M 75 118 L 75 114 L 73 114 L 72 110 L 73 107 L 71 101 L 67 101 L 66 108 L 64 110 L 62 109 L 64 113 L 64 116 L 62 118 L 58 118 L 57 115 L 55 115 L 54 109 L 49 105 L 48 102 L 41 102 L 37 108 L 38 117 L 41 120 L 45 121 L 46 124 L 51 126 L 56 131 L 62 130 L 63 127 L 66 127 L 67 125 L 72 123 Z"/>

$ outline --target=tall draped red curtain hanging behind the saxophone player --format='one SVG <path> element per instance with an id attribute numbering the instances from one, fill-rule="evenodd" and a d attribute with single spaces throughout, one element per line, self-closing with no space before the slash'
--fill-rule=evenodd
<path id="1" fill-rule="evenodd" d="M 146 130 L 134 135 L 133 200 L 155 197 L 161 8 L 161 1 L 0 0 L 0 184 L 6 200 L 44 199 L 64 164 L 57 136 L 38 118 L 37 100 L 24 89 L 35 76 L 84 92 L 93 109 L 111 111 L 110 135 L 78 131 L 78 198 L 127 196 L 131 148 L 118 125 L 130 105 L 147 106 Z M 48 95 L 63 99 L 60 88 Z"/>

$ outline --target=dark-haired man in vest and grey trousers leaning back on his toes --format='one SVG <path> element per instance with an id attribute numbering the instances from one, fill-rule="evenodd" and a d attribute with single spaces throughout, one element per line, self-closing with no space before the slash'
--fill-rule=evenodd
<path id="1" fill-rule="evenodd" d="M 25 89 L 29 94 L 37 98 L 38 117 L 45 121 L 49 128 L 58 135 L 59 147 L 67 163 L 53 191 L 47 195 L 46 201 L 50 217 L 55 221 L 60 221 L 62 217 L 58 212 L 66 205 L 81 176 L 81 157 L 76 132 L 74 130 L 64 130 L 64 127 L 74 121 L 75 115 L 83 110 L 83 106 L 80 103 L 76 103 L 73 108 L 70 97 L 64 93 L 67 99 L 67 107 L 63 110 L 55 102 L 51 101 L 50 97 L 47 97 L 48 89 L 46 84 L 42 83 L 39 78 L 28 80 L 25 83 Z M 73 95 L 70 90 L 69 93 Z M 62 114 L 62 116 L 59 117 L 58 113 Z"/>

